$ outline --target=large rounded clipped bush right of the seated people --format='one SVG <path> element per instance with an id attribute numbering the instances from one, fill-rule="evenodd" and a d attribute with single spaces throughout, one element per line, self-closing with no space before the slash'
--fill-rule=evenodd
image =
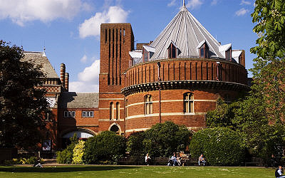
<path id="1" fill-rule="evenodd" d="M 199 130 L 190 142 L 192 157 L 204 154 L 207 162 L 217 166 L 234 166 L 244 161 L 245 149 L 238 132 L 227 127 Z"/>

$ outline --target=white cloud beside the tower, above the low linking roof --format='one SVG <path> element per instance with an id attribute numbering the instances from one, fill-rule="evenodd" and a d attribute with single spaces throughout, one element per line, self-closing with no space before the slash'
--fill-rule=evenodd
<path id="1" fill-rule="evenodd" d="M 84 56 L 83 56 L 84 57 Z M 100 60 L 95 60 L 91 66 L 78 73 L 78 81 L 69 83 L 69 90 L 76 92 L 98 92 Z"/>

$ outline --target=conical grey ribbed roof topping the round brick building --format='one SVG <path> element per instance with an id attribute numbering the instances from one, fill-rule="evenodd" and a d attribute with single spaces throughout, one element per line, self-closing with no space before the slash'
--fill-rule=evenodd
<path id="1" fill-rule="evenodd" d="M 182 6 L 180 12 L 165 27 L 159 36 L 151 43 L 155 53 L 150 60 L 168 58 L 167 48 L 170 43 L 177 46 L 179 52 L 177 58 L 197 58 L 198 48 L 206 42 L 209 46 L 210 58 L 224 58 L 219 50 L 219 42 L 202 26 L 197 19 Z"/>

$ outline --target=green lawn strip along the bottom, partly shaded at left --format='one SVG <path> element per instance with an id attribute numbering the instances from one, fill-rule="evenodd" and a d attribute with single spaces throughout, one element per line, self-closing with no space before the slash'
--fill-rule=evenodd
<path id="1" fill-rule="evenodd" d="M 272 168 L 263 167 L 158 167 L 158 166 L 57 166 L 0 167 L 1 178 L 68 177 L 274 177 Z"/>

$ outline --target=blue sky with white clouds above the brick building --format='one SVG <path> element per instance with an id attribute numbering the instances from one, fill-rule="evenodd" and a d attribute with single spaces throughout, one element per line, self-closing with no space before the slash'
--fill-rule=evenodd
<path id="1" fill-rule="evenodd" d="M 250 14 L 253 0 L 185 0 L 209 33 L 233 49 L 246 51 L 252 68 L 257 34 Z M 100 23 L 128 22 L 135 41 L 153 41 L 180 11 L 182 0 L 0 0 L 0 39 L 43 51 L 59 75 L 70 75 L 70 91 L 98 91 Z M 249 77 L 251 74 L 249 73 Z"/>

